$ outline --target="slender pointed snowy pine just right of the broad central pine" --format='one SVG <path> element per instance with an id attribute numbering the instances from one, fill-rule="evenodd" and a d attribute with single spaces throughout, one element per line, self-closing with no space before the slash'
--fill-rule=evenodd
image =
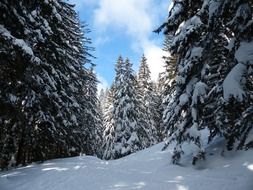
<path id="1" fill-rule="evenodd" d="M 137 82 L 139 101 L 143 105 L 143 116 L 147 124 L 145 128 L 152 139 L 152 144 L 155 144 L 158 141 L 161 113 L 159 112 L 159 96 L 156 94 L 155 85 L 151 81 L 150 70 L 145 55 L 141 58 Z"/>

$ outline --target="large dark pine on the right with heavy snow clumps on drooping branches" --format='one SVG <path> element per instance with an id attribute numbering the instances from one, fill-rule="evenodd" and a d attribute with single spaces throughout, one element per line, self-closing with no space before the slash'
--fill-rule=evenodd
<path id="1" fill-rule="evenodd" d="M 228 149 L 236 140 L 244 146 L 252 128 L 252 91 L 247 88 L 252 83 L 245 82 L 251 78 L 252 3 L 175 0 L 168 20 L 157 31 L 164 27 L 167 35 L 174 35 L 171 53 L 179 55 L 176 94 L 165 115 L 168 143 L 176 141 L 173 162 L 179 161 L 186 141 L 198 148 L 193 164 L 204 158 L 200 130 L 205 127 L 211 131 L 209 139 L 217 134 L 225 136 Z M 216 112 L 208 118 L 210 110 Z"/>

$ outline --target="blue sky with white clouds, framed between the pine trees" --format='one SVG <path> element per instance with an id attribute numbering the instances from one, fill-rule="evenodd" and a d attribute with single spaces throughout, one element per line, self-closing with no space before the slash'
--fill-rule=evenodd
<path id="1" fill-rule="evenodd" d="M 137 70 L 144 53 L 152 79 L 162 71 L 163 35 L 154 34 L 167 16 L 168 0 L 69 0 L 91 33 L 97 59 L 99 89 L 111 84 L 119 55 L 128 57 Z"/>

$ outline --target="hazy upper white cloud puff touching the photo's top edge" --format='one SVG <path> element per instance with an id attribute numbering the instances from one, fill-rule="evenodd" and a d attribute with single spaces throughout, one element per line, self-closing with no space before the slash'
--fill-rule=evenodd
<path id="1" fill-rule="evenodd" d="M 102 29 L 123 29 L 127 34 L 144 42 L 152 31 L 150 0 L 100 0 L 95 10 L 95 25 Z"/>

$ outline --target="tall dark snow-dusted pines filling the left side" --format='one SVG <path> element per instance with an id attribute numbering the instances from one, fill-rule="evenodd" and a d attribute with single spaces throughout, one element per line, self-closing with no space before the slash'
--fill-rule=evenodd
<path id="1" fill-rule="evenodd" d="M 3 0 L 0 12 L 1 163 L 87 151 L 80 93 L 90 54 L 73 6 Z"/>

